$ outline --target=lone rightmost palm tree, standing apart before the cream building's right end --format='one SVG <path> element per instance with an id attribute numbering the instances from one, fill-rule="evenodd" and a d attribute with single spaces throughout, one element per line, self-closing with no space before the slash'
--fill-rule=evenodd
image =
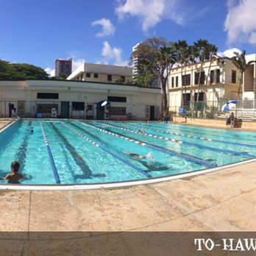
<path id="1" fill-rule="evenodd" d="M 231 58 L 232 63 L 235 65 L 236 68 L 240 71 L 240 78 L 239 78 L 239 87 L 238 87 L 238 99 L 240 99 L 241 93 L 241 83 L 243 82 L 243 73 L 246 71 L 246 68 L 249 67 L 252 63 L 255 63 L 255 60 L 251 60 L 246 63 L 246 51 L 243 50 L 241 54 L 238 52 L 234 52 L 235 56 Z"/>

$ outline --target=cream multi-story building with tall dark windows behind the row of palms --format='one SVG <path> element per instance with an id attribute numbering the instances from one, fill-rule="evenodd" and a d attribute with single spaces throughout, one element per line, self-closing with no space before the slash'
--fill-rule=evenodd
<path id="1" fill-rule="evenodd" d="M 191 107 L 191 102 L 209 102 L 209 112 L 219 107 L 220 99 L 237 99 L 240 72 L 230 58 L 224 57 L 207 61 L 202 66 L 199 82 L 200 63 L 172 68 L 169 76 L 170 110 Z M 199 84 L 199 85 L 198 85 Z M 199 96 L 198 96 L 199 93 Z M 242 95 L 242 88 L 240 95 Z"/>

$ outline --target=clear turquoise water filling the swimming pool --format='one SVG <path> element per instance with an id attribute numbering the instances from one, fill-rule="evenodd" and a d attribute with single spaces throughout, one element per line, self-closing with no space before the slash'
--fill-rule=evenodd
<path id="1" fill-rule="evenodd" d="M 60 184 L 165 177 L 256 155 L 254 132 L 164 123 L 18 120 L 0 134 L 1 177 L 10 173 L 10 164 L 17 160 L 24 175 L 22 184 L 57 183 L 43 131 Z M 131 152 L 150 152 L 154 159 L 138 159 Z"/>

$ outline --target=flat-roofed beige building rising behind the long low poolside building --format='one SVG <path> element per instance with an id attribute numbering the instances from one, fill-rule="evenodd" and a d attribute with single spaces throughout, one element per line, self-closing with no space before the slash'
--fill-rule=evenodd
<path id="1" fill-rule="evenodd" d="M 67 79 L 88 82 L 129 83 L 132 82 L 132 68 L 118 65 L 83 63 Z"/>

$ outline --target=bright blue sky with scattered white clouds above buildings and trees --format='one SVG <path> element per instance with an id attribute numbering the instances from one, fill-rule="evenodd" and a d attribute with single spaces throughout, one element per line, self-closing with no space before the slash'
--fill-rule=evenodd
<path id="1" fill-rule="evenodd" d="M 152 36 L 207 39 L 256 53 L 255 0 L 0 0 L 0 59 L 54 69 L 54 60 L 127 65 Z"/>

